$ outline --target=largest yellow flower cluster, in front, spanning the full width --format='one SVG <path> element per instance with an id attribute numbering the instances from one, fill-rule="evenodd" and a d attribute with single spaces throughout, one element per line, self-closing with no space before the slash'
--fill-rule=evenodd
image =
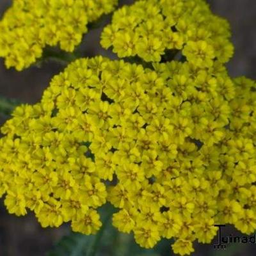
<path id="1" fill-rule="evenodd" d="M 80 59 L 40 103 L 2 127 L 1 195 L 10 213 L 34 211 L 43 227 L 71 221 L 94 234 L 97 208 L 119 209 L 113 225 L 152 248 L 210 243 L 214 223 L 256 229 L 255 83 L 188 61 L 154 68 Z"/>

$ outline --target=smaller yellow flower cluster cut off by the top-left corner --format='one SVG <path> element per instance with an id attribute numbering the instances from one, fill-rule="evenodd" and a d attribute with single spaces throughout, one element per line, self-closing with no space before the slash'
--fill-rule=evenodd
<path id="1" fill-rule="evenodd" d="M 13 0 L 0 22 L 0 56 L 22 70 L 42 56 L 46 45 L 72 52 L 88 22 L 113 11 L 117 0 Z"/>

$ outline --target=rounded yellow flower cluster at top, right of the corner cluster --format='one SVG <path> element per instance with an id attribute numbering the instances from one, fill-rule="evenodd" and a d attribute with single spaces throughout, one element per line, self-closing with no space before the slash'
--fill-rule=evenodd
<path id="1" fill-rule="evenodd" d="M 101 44 L 119 58 L 159 62 L 181 52 L 194 65 L 211 67 L 213 60 L 225 63 L 232 56 L 229 37 L 227 21 L 204 0 L 141 0 L 116 10 Z"/>

